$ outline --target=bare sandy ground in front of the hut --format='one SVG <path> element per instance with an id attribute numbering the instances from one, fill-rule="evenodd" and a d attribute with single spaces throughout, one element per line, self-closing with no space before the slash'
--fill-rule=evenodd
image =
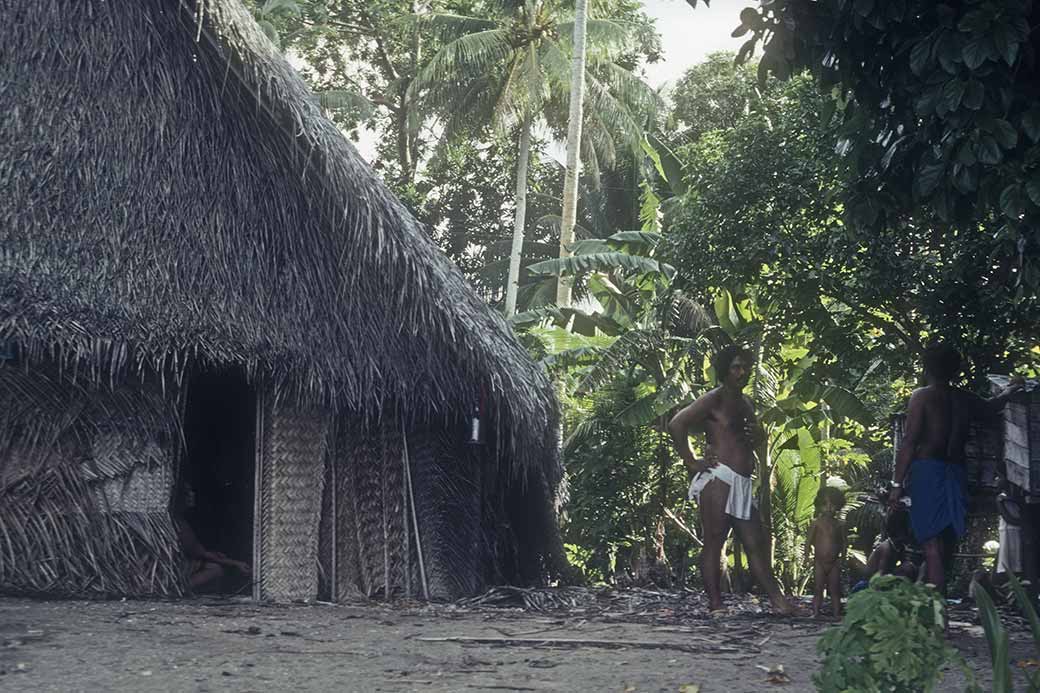
<path id="1" fill-rule="evenodd" d="M 813 690 L 815 643 L 826 624 L 768 617 L 753 605 L 735 611 L 709 619 L 639 600 L 539 613 L 0 599 L 0 690 Z M 955 622 L 951 638 L 985 682 L 981 628 Z M 1014 649 L 1021 658 L 1032 652 L 1021 639 Z M 789 681 L 774 675 L 771 683 L 763 668 L 778 665 Z M 959 674 L 945 682 L 946 691 L 963 690 Z"/>

